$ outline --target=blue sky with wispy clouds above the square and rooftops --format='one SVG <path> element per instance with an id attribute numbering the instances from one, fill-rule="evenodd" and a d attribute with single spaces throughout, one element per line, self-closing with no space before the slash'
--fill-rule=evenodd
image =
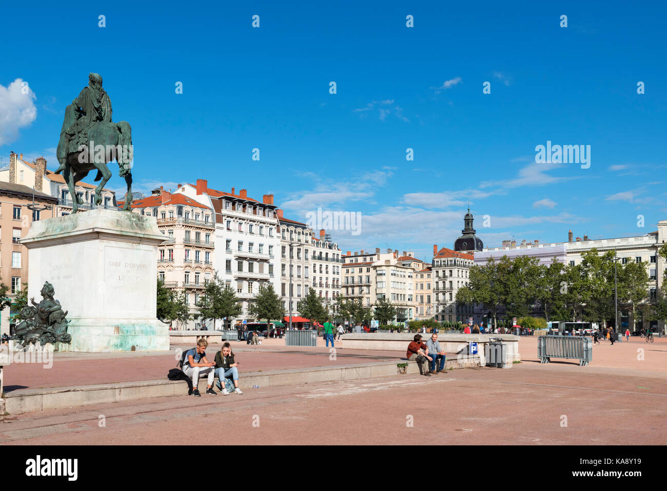
<path id="1" fill-rule="evenodd" d="M 358 235 L 331 231 L 343 250 L 430 260 L 469 199 L 488 246 L 667 218 L 664 5 L 357 3 L 5 3 L 2 163 L 16 151 L 57 167 L 63 111 L 94 71 L 132 126 L 137 190 L 203 178 L 273 193 L 295 220 L 360 212 Z M 547 141 L 590 145 L 590 169 L 535 163 Z"/>

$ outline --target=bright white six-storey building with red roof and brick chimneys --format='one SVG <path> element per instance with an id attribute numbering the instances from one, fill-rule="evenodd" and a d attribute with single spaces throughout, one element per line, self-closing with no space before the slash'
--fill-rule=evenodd
<path id="1" fill-rule="evenodd" d="M 278 221 L 273 195 L 263 195 L 259 202 L 247 195 L 208 187 L 206 179 L 197 183 L 178 185 L 174 194 L 182 194 L 215 212 L 215 254 L 213 268 L 225 284 L 235 288 L 242 302 L 243 313 L 231 322 L 255 320 L 249 314 L 249 303 L 259 291 L 259 284 L 270 282 L 280 294 L 275 281 L 276 258 L 280 248 Z"/>

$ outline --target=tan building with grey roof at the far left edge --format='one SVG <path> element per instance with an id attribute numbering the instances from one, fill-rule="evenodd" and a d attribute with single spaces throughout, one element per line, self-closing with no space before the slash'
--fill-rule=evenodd
<path id="1" fill-rule="evenodd" d="M 21 245 L 33 221 L 51 218 L 55 214 L 57 199 L 40 191 L 34 192 L 34 203 L 48 207 L 33 211 L 33 189 L 20 184 L 0 181 L 0 280 L 9 289 L 7 296 L 14 301 L 23 282 L 28 281 L 28 249 Z M 10 333 L 9 317 L 13 306 L 0 312 L 0 334 Z"/>

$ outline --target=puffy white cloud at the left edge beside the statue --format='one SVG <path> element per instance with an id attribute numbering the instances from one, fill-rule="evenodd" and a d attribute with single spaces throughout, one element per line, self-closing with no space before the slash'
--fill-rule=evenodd
<path id="1" fill-rule="evenodd" d="M 7 87 L 0 84 L 0 146 L 8 145 L 19 136 L 19 128 L 29 126 L 37 119 L 35 100 L 37 96 L 25 87 L 21 93 L 23 79 L 16 79 Z"/>

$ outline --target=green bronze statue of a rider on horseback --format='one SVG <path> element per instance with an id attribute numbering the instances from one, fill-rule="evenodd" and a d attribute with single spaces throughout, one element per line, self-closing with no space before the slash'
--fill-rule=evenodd
<path id="1" fill-rule="evenodd" d="M 91 73 L 88 80 L 88 87 L 84 87 L 79 97 L 65 109 L 56 151 L 60 167 L 55 173 L 63 172 L 72 197 L 72 213 L 77 213 L 83 200 L 76 194 L 75 183 L 97 169 L 95 181 L 101 179 L 101 182 L 95 188 L 95 205 L 99 205 L 102 202 L 100 193 L 111 179 L 107 163 L 115 160 L 119 166 L 118 175 L 127 183 L 123 210 L 129 211 L 132 201 L 132 129 L 127 121 L 111 121 L 111 99 L 102 88 L 102 77 Z"/>

